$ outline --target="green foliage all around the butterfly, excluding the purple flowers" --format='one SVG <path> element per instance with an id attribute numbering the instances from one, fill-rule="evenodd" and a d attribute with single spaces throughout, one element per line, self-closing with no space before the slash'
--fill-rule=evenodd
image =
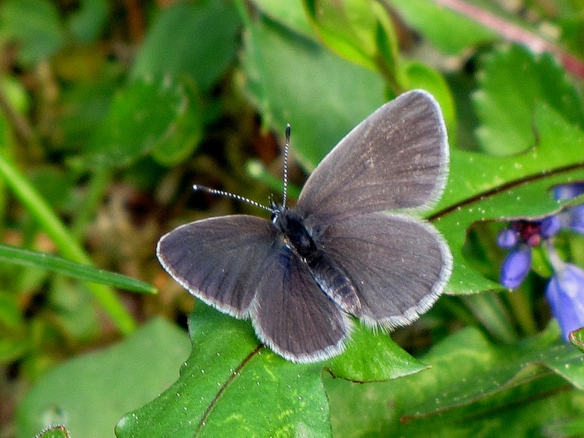
<path id="1" fill-rule="evenodd" d="M 511 218 L 581 202 L 550 190 L 584 181 L 584 3 L 519 3 L 1 2 L 0 436 L 584 436 L 550 266 L 504 290 L 495 245 Z M 278 194 L 289 123 L 297 193 L 415 88 L 449 130 L 426 216 L 454 269 L 412 327 L 359 326 L 344 354 L 295 365 L 161 270 L 173 227 L 258 214 L 193 183 Z M 584 266 L 582 236 L 557 246 Z"/>

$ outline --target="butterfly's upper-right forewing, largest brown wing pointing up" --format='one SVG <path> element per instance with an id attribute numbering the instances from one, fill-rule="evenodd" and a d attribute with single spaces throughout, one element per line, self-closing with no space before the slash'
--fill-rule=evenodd
<path id="1" fill-rule="evenodd" d="M 426 91 L 381 106 L 342 139 L 306 181 L 297 209 L 330 224 L 355 214 L 423 208 L 445 185 L 447 134 Z"/>

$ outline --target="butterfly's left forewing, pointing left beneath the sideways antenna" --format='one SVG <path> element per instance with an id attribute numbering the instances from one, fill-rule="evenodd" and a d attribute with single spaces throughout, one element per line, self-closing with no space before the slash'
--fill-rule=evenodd
<path id="1" fill-rule="evenodd" d="M 276 233 L 267 220 L 223 216 L 170 231 L 159 240 L 157 255 L 183 288 L 218 310 L 243 318 L 275 246 Z"/>

